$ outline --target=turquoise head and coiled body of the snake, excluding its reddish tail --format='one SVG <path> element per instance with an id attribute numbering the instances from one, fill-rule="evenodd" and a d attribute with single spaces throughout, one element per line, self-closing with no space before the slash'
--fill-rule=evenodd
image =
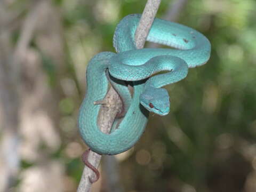
<path id="1" fill-rule="evenodd" d="M 140 18 L 141 14 L 124 17 L 114 33 L 116 53 L 101 52 L 87 66 L 78 127 L 86 145 L 98 154 L 116 155 L 132 148 L 145 132 L 149 112 L 161 116 L 170 112 L 170 97 L 163 86 L 181 81 L 189 68 L 210 58 L 211 44 L 203 34 L 158 18 L 146 40 L 169 47 L 137 49 L 134 36 Z M 105 98 L 109 84 L 122 99 L 125 115 L 116 118 L 110 134 L 105 134 L 97 123 L 101 105 L 94 104 Z"/>

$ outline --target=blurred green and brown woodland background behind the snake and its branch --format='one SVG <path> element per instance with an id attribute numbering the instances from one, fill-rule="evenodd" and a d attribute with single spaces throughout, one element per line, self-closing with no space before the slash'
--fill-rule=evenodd
<path id="1" fill-rule="evenodd" d="M 118 21 L 145 4 L 0 1 L 0 191 L 76 191 L 87 62 L 114 52 Z M 162 0 L 157 17 L 203 33 L 211 58 L 166 86 L 171 113 L 150 115 L 135 147 L 115 156 L 114 186 L 115 161 L 103 159 L 92 191 L 256 191 L 255 8 L 254 0 Z"/>

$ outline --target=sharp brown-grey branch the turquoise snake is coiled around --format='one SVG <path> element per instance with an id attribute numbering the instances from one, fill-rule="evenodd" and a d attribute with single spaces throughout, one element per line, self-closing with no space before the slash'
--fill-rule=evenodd
<path id="1" fill-rule="evenodd" d="M 135 42 L 138 49 L 143 48 L 146 38 L 149 32 L 149 29 L 154 21 L 156 12 L 158 10 L 159 4 L 161 0 L 148 0 L 145 9 L 142 13 L 139 26 L 137 27 L 135 33 Z M 122 108 L 122 101 L 120 100 L 116 91 L 111 87 L 109 92 L 104 99 L 107 102 L 109 107 L 103 107 L 101 109 L 101 114 L 99 115 L 98 125 L 100 130 L 103 133 L 109 133 L 111 130 L 111 126 L 114 122 L 116 114 Z M 88 161 L 94 166 L 98 167 L 100 163 L 101 155 L 90 151 Z M 90 178 L 95 177 L 94 172 L 89 169 L 89 167 L 85 166 L 83 170 L 82 178 L 79 182 L 79 186 L 77 192 L 89 192 L 92 183 L 90 183 Z"/>

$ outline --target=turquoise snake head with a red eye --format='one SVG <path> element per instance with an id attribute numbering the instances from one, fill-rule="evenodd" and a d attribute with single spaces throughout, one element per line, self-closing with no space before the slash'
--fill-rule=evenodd
<path id="1" fill-rule="evenodd" d="M 170 111 L 168 92 L 162 88 L 150 87 L 140 95 L 140 103 L 150 112 L 158 115 L 167 115 Z"/>

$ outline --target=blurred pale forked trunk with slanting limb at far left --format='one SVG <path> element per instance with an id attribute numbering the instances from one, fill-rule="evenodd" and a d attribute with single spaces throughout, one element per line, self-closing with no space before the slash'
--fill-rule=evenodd
<path id="1" fill-rule="evenodd" d="M 20 107 L 20 65 L 22 58 L 27 51 L 29 42 L 33 37 L 40 5 L 40 2 L 36 3 L 34 9 L 31 9 L 27 14 L 21 29 L 21 36 L 18 40 L 17 46 L 14 48 L 14 51 L 12 52 L 10 49 L 7 57 L 3 54 L 0 55 L 0 100 L 4 114 L 1 153 L 3 153 L 2 161 L 6 165 L 4 167 L 6 173 L 6 175 L 4 175 L 5 181 L 2 181 L 3 185 L 1 187 L 4 191 L 7 191 L 7 189 L 14 184 L 19 170 L 20 158 L 18 154 L 18 127 Z M 3 7 L 3 4 L 1 4 L 1 6 L 2 10 L 6 10 L 6 7 Z M 1 20 L 0 25 L 2 26 L 3 23 L 6 23 L 5 21 Z M 7 41 L 4 38 L 0 38 L 0 41 L 0 46 L 3 48 Z"/>

